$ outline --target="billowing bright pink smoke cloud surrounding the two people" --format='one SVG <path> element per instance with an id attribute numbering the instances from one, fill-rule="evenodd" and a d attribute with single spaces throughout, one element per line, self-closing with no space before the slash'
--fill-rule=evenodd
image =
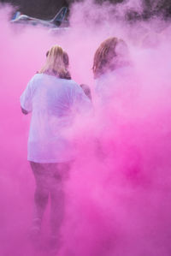
<path id="1" fill-rule="evenodd" d="M 46 247 L 35 251 L 27 238 L 35 185 L 27 163 L 30 116 L 21 114 L 20 96 L 55 44 L 68 52 L 72 78 L 91 86 L 94 103 L 94 116 L 79 118 L 72 131 L 78 155 L 66 186 L 58 255 L 170 255 L 171 30 L 161 21 L 128 25 L 126 9 L 117 6 L 116 22 L 109 4 L 74 4 L 71 27 L 57 34 L 14 27 L 9 8 L 1 9 L 2 255 L 49 255 Z M 94 81 L 93 55 L 110 36 L 127 42 L 131 67 L 127 74 L 118 69 Z M 97 86 L 109 98 L 103 99 L 103 89 L 97 94 Z M 44 241 L 47 226 L 45 221 Z"/>

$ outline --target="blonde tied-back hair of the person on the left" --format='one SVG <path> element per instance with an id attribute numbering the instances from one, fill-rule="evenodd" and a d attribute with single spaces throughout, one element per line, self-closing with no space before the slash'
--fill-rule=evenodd
<path id="1" fill-rule="evenodd" d="M 50 51 L 46 53 L 46 62 L 39 73 L 55 75 L 63 79 L 71 79 L 68 72 L 68 63 L 65 62 L 67 52 L 62 50 L 59 45 L 51 47 Z"/>

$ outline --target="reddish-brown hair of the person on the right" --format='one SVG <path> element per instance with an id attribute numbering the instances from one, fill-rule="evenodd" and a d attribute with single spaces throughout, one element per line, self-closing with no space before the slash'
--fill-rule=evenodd
<path id="1" fill-rule="evenodd" d="M 108 70 L 114 70 L 117 68 L 115 57 L 118 56 L 115 51 L 116 46 L 122 44 L 127 47 L 126 43 L 122 39 L 109 38 L 103 41 L 103 43 L 97 48 L 94 55 L 92 71 L 94 77 L 97 78 L 101 74 L 104 74 Z"/>

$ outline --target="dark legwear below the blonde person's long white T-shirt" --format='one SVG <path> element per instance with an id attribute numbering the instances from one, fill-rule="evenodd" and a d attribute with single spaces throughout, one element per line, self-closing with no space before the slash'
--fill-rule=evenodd
<path id="1" fill-rule="evenodd" d="M 34 217 L 39 225 L 50 198 L 51 235 L 57 235 L 64 217 L 64 181 L 71 163 L 39 164 L 30 162 L 36 181 Z"/>

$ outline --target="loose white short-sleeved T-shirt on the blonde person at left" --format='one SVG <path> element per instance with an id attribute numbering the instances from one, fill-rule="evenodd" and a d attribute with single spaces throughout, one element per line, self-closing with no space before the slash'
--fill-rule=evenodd
<path id="1" fill-rule="evenodd" d="M 30 101 L 27 95 L 31 96 Z M 82 101 L 90 105 L 74 80 L 49 74 L 33 76 L 27 91 L 21 96 L 23 109 L 32 110 L 28 160 L 51 163 L 74 158 L 74 145 L 68 139 L 68 128 L 74 122 L 75 112 Z"/>

